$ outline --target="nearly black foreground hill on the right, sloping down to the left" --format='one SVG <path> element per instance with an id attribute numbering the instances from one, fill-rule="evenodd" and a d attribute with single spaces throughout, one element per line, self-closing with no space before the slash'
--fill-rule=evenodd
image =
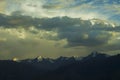
<path id="1" fill-rule="evenodd" d="M 101 54 L 99 54 L 101 55 Z M 103 54 L 102 54 L 103 55 Z M 81 61 L 45 74 L 43 80 L 120 80 L 120 55 L 85 57 Z"/>

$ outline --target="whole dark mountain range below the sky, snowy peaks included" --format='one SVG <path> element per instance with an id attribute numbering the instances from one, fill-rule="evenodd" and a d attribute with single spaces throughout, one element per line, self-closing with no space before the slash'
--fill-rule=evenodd
<path id="1" fill-rule="evenodd" d="M 0 60 L 0 80 L 120 80 L 120 54 Z"/>

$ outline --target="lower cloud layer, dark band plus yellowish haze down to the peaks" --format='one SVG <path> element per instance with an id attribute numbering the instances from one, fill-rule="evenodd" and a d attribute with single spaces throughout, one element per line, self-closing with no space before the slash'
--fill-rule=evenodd
<path id="1" fill-rule="evenodd" d="M 3 59 L 84 56 L 94 50 L 118 51 L 120 46 L 120 27 L 100 19 L 32 18 L 13 13 L 0 14 L 0 26 Z"/>

